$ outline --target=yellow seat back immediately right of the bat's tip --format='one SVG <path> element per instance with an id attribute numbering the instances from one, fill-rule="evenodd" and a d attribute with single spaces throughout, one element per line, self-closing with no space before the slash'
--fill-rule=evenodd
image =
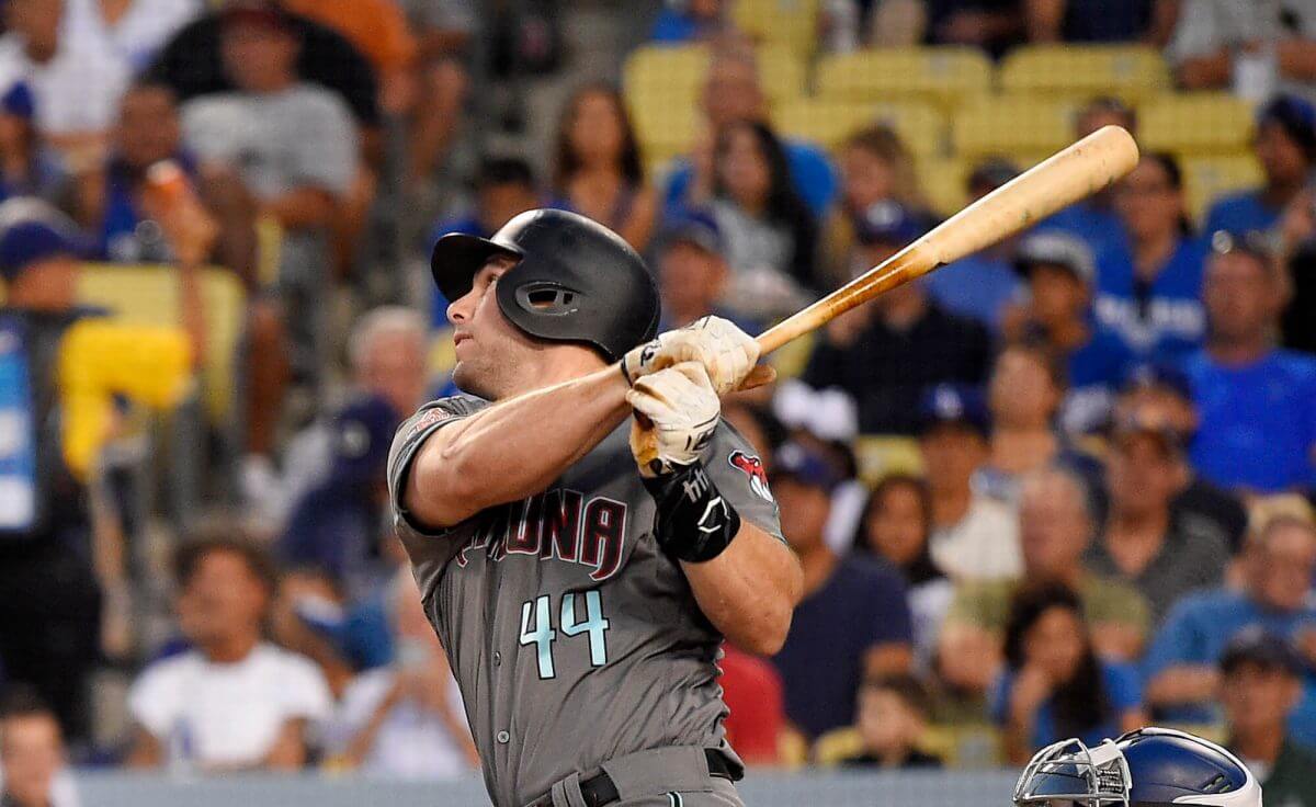
<path id="1" fill-rule="evenodd" d="M 1224 92 L 1163 95 L 1138 107 L 1144 151 L 1233 155 L 1248 150 L 1253 126 L 1248 101 Z"/>

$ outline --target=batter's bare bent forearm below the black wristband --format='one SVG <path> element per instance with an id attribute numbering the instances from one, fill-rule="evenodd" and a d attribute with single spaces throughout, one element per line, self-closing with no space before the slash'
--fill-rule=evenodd
<path id="1" fill-rule="evenodd" d="M 704 616 L 732 644 L 759 656 L 782 649 L 803 591 L 790 548 L 745 521 L 725 552 L 682 569 Z"/>

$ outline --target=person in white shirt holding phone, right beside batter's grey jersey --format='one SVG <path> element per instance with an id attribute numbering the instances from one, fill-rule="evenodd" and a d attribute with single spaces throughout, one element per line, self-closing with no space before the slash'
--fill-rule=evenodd
<path id="1" fill-rule="evenodd" d="M 393 582 L 397 657 L 347 686 L 326 732 L 334 765 L 407 779 L 453 778 L 479 765 L 462 695 L 411 570 Z"/>

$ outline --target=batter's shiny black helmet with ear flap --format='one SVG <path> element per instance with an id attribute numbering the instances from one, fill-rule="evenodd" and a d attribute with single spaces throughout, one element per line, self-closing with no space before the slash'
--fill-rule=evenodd
<path id="1" fill-rule="evenodd" d="M 517 258 L 499 278 L 497 304 L 530 336 L 584 342 L 609 361 L 658 333 L 658 287 L 620 236 L 584 216 L 529 211 L 492 238 L 449 233 L 430 255 L 434 283 L 450 301 L 471 291 L 496 255 Z"/>

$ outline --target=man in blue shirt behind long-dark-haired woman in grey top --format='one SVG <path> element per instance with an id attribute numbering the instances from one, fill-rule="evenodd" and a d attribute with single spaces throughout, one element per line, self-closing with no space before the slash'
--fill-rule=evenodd
<path id="1" fill-rule="evenodd" d="M 767 97 L 763 95 L 754 51 L 747 47 L 719 49 L 708 65 L 700 108 L 707 129 L 695 150 L 672 167 L 663 192 L 669 215 L 682 207 L 707 204 L 713 196 L 713 146 L 722 129 L 734 122 L 767 120 Z M 837 179 L 826 154 L 812 145 L 783 141 L 791 183 L 809 205 L 813 216 L 822 216 L 836 199 Z"/>

